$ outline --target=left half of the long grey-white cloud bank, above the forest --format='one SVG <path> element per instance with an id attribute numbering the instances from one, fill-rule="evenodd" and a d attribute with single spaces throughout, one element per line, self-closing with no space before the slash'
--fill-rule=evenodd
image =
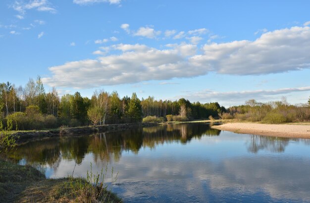
<path id="1" fill-rule="evenodd" d="M 51 86 L 87 88 L 173 77 L 191 77 L 204 71 L 199 71 L 200 68 L 197 70 L 189 68 L 189 64 L 176 49 L 145 50 L 141 49 L 142 47 L 136 45 L 126 48 L 126 45 L 119 45 L 115 49 L 136 51 L 125 51 L 120 55 L 108 55 L 96 60 L 87 59 L 54 66 L 50 68 L 53 76 L 43 80 Z"/>

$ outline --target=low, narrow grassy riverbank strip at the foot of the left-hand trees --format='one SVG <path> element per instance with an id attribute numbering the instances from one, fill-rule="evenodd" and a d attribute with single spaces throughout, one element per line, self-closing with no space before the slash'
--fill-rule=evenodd
<path id="1" fill-rule="evenodd" d="M 98 126 L 82 126 L 72 128 L 58 128 L 51 130 L 33 130 L 33 131 L 11 131 L 11 135 L 15 138 L 16 143 L 24 143 L 28 141 L 35 141 L 44 138 L 79 135 L 79 134 L 91 134 L 91 133 L 103 133 L 117 130 L 127 130 L 137 127 L 150 127 L 158 125 L 157 123 L 124 123 L 124 124 L 110 124 L 110 125 L 98 125 Z"/>

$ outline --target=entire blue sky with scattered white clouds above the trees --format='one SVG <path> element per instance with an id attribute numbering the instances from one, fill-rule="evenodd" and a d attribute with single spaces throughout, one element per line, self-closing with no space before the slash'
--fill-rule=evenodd
<path id="1" fill-rule="evenodd" d="M 1 0 L 0 82 L 59 95 L 310 97 L 309 0 Z"/>

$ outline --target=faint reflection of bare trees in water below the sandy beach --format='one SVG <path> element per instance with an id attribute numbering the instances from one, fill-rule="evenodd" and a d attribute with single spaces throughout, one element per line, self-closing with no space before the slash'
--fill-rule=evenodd
<path id="1" fill-rule="evenodd" d="M 292 138 L 279 138 L 252 135 L 251 141 L 248 144 L 248 151 L 257 153 L 259 150 L 267 150 L 269 152 L 284 152 L 285 147 L 289 144 L 289 141 L 299 141 L 299 139 Z"/>

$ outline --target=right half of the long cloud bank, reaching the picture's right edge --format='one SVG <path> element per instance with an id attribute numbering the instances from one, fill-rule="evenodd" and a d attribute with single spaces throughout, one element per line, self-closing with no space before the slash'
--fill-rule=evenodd
<path id="1" fill-rule="evenodd" d="M 255 41 L 205 45 L 190 62 L 209 71 L 258 75 L 310 67 L 310 27 L 292 27 L 262 34 Z"/>

